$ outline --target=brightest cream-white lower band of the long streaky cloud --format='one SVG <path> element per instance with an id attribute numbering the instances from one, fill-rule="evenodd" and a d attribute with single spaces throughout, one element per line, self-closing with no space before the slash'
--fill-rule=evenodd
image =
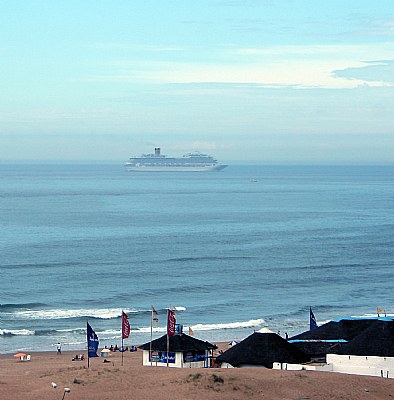
<path id="1" fill-rule="evenodd" d="M 133 71 L 115 75 L 96 75 L 91 77 L 101 82 L 129 83 L 232 83 L 257 84 L 269 87 L 292 86 L 299 88 L 354 88 L 363 84 L 369 86 L 389 86 L 384 82 L 367 82 L 361 79 L 338 78 L 333 71 L 362 67 L 362 62 L 338 61 L 288 61 L 252 63 L 242 65 L 212 65 L 161 63 L 160 68 L 150 71 Z"/>

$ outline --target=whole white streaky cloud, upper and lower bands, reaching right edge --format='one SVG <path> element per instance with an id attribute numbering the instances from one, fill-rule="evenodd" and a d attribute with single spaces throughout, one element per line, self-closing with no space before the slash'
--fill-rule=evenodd
<path id="1" fill-rule="evenodd" d="M 394 43 L 374 46 L 273 46 L 241 48 L 222 62 L 127 62 L 119 73 L 91 76 L 101 82 L 228 83 L 269 87 L 349 89 L 360 85 L 391 86 L 391 82 L 334 76 L 336 70 L 360 68 L 363 60 L 391 59 Z"/>

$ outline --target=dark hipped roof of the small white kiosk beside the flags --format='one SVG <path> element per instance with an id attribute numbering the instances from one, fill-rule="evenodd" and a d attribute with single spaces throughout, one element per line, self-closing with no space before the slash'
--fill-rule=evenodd
<path id="1" fill-rule="evenodd" d="M 150 349 L 150 342 L 147 342 L 139 346 L 142 350 Z M 171 352 L 177 351 L 204 351 L 217 349 L 217 346 L 188 336 L 184 333 L 179 335 L 170 336 L 170 347 Z M 167 351 L 167 335 L 164 335 L 158 339 L 152 341 L 152 350 L 154 351 Z"/>

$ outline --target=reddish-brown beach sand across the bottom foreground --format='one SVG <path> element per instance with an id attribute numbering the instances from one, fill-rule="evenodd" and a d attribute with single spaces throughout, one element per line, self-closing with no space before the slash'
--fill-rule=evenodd
<path id="1" fill-rule="evenodd" d="M 0 356 L 0 399 L 394 399 L 394 379 L 264 368 L 177 369 L 143 367 L 142 351 L 72 361 L 75 352 L 32 353 L 21 362 Z M 57 384 L 53 389 L 51 382 Z"/>

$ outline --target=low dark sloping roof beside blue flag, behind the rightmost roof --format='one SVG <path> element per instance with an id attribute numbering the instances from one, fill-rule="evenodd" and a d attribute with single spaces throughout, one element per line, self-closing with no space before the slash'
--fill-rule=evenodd
<path id="1" fill-rule="evenodd" d="M 369 328 L 376 319 L 340 319 L 330 321 L 311 331 L 303 332 L 289 340 L 346 340 L 354 339 Z"/>

